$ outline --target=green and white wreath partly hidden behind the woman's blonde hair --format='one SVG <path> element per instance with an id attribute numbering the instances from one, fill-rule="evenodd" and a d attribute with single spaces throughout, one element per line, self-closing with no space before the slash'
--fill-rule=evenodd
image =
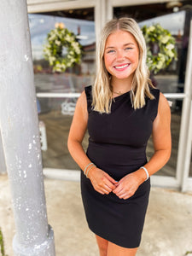
<path id="1" fill-rule="evenodd" d="M 142 27 L 148 53 L 147 64 L 150 71 L 158 73 L 169 66 L 172 60 L 177 60 L 175 38 L 160 24 Z"/>

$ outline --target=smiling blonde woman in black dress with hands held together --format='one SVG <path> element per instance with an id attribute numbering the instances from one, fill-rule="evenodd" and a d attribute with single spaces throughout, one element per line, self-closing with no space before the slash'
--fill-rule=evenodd
<path id="1" fill-rule="evenodd" d="M 170 158 L 170 119 L 165 96 L 148 79 L 146 45 L 136 21 L 109 21 L 98 45 L 95 84 L 79 97 L 68 137 L 82 170 L 85 215 L 101 256 L 136 255 L 149 177 Z M 81 143 L 87 128 L 85 154 Z M 154 155 L 147 160 L 151 134 Z"/>

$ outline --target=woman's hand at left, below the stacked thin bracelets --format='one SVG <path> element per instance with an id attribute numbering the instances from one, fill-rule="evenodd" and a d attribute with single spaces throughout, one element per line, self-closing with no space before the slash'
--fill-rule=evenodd
<path id="1" fill-rule="evenodd" d="M 88 177 L 90 178 L 90 182 L 92 183 L 94 189 L 102 195 L 108 195 L 113 189 L 116 188 L 115 184 L 118 183 L 113 179 L 113 177 L 110 177 L 107 172 L 104 172 L 96 167 L 90 169 Z"/>

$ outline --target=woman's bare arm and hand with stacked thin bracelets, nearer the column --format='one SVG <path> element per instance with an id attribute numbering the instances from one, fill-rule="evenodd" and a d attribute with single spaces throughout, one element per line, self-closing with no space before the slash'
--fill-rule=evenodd
<path id="1" fill-rule="evenodd" d="M 69 131 L 67 146 L 73 160 L 84 171 L 85 166 L 90 164 L 90 159 L 84 153 L 82 147 L 82 141 L 84 139 L 84 133 L 87 129 L 88 112 L 85 92 L 81 94 L 77 102 L 75 113 L 73 116 L 73 122 Z M 115 188 L 115 180 L 103 172 L 101 169 L 92 167 L 88 174 L 90 181 L 97 192 L 101 194 L 108 194 Z"/>

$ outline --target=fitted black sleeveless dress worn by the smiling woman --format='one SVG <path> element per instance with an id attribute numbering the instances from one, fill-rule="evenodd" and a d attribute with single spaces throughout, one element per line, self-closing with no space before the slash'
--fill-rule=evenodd
<path id="1" fill-rule="evenodd" d="M 151 89 L 154 100 L 146 98 L 146 105 L 137 110 L 131 107 L 129 91 L 117 96 L 109 114 L 93 111 L 91 86 L 84 90 L 90 135 L 86 154 L 98 168 L 119 181 L 147 162 L 146 146 L 157 115 L 160 90 Z M 120 247 L 138 247 L 149 190 L 150 179 L 127 200 L 119 199 L 113 192 L 102 195 L 96 192 L 90 179 L 81 171 L 81 194 L 90 230 Z"/>

